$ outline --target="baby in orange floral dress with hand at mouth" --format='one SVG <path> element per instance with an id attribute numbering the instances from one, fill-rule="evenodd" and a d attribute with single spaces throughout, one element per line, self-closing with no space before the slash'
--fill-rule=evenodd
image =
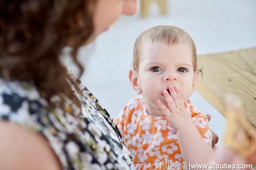
<path id="1" fill-rule="evenodd" d="M 184 30 L 157 26 L 136 39 L 129 79 L 143 97 L 130 100 L 117 119 L 136 169 L 186 169 L 212 156 L 208 119 L 189 100 L 200 71 Z"/>

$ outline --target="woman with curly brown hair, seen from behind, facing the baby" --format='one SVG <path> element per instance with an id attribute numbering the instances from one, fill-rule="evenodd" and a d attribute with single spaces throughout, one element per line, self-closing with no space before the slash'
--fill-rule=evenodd
<path id="1" fill-rule="evenodd" d="M 0 169 L 134 169 L 108 112 L 59 60 L 137 0 L 0 0 Z"/>

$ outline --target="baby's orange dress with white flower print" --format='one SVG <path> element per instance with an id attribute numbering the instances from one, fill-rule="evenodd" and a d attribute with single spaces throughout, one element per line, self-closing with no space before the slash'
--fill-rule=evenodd
<path id="1" fill-rule="evenodd" d="M 190 100 L 185 103 L 185 107 L 204 141 L 212 145 L 212 132 L 206 115 L 194 109 Z M 161 169 L 168 170 L 174 165 L 182 169 L 183 158 L 177 131 L 169 125 L 166 117 L 148 115 L 142 97 L 126 104 L 116 124 L 132 154 L 136 169 L 160 169 L 159 163 Z"/>

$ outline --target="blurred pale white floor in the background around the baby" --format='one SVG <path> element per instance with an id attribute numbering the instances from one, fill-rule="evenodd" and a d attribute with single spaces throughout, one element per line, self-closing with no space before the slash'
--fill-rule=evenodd
<path id="1" fill-rule="evenodd" d="M 134 41 L 149 27 L 181 27 L 194 39 L 198 54 L 256 46 L 256 0 L 168 2 L 167 16 L 161 16 L 156 5 L 152 6 L 146 19 L 138 14 L 122 16 L 109 31 L 80 51 L 80 61 L 86 66 L 81 80 L 113 117 L 118 115 L 130 98 L 136 96 L 130 87 L 128 70 Z M 191 100 L 200 111 L 212 116 L 210 127 L 220 137 L 220 144 L 225 132 L 224 117 L 197 92 L 194 92 Z"/>

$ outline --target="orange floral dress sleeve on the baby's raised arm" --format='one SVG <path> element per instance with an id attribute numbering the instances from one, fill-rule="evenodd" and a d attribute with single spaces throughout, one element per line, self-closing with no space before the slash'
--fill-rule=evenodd
<path id="1" fill-rule="evenodd" d="M 198 113 L 192 119 L 204 141 L 212 146 L 212 131 L 209 127 L 207 116 L 203 113 Z"/>

